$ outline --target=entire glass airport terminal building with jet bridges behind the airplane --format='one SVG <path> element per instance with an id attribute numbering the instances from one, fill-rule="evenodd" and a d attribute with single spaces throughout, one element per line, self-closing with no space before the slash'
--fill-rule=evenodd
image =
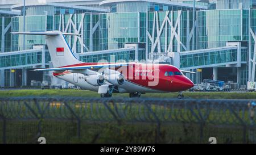
<path id="1" fill-rule="evenodd" d="M 59 30 L 84 62 L 138 60 L 172 64 L 203 79 L 255 81 L 256 0 L 23 0 L 0 2 L 0 87 L 57 83 L 44 36 L 11 31 Z M 195 9 L 195 14 L 193 14 Z M 24 16 L 25 15 L 25 18 Z"/>

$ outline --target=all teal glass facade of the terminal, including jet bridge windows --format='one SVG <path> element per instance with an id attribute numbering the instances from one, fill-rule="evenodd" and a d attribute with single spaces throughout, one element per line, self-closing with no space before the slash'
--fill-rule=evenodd
<path id="1" fill-rule="evenodd" d="M 249 1 L 252 6 L 253 1 Z M 192 2 L 183 3 L 192 4 Z M 196 3 L 197 5 L 208 6 L 208 9 L 218 7 L 214 3 Z M 192 50 L 193 8 L 184 7 L 185 4 L 182 3 L 181 5 L 183 6 L 142 1 L 123 2 L 111 6 L 110 13 L 100 13 L 99 11 L 91 13 L 92 11 L 89 10 L 68 7 L 33 6 L 26 10 L 25 31 L 58 30 L 82 33 L 81 39 L 77 39 L 77 36 L 66 36 L 66 39 L 73 52 L 80 53 L 80 60 L 84 62 L 98 62 L 99 60 L 111 62 L 113 57 L 115 61 L 125 60 L 128 62 L 135 60 L 135 55 L 140 61 L 146 60 L 146 53 L 151 52 L 160 52 L 159 55 L 164 56 L 169 56 L 171 52 L 180 52 L 180 68 L 211 67 L 214 64 L 225 66 L 225 63 L 236 62 L 237 49 L 216 49 L 216 51 L 208 53 L 184 53 Z M 2 16 L 5 19 L 1 18 Z M 195 49 L 225 47 L 228 41 L 248 43 L 249 37 L 251 44 L 248 46 L 254 49 L 254 39 L 249 35 L 249 21 L 251 29 L 256 32 L 256 9 L 250 11 L 250 16 L 251 19 L 249 19 L 249 10 L 247 9 L 197 9 L 196 34 L 194 34 Z M 5 27 L 11 22 L 11 30 L 5 35 L 5 46 L 2 51 L 22 51 L 23 35 L 11 35 L 10 31 L 23 31 L 23 16 L 12 17 L 11 15 L 0 14 L 0 35 L 2 34 L 3 20 L 5 20 Z M 81 31 L 78 32 L 80 28 Z M 46 44 L 44 36 L 36 35 L 26 35 L 24 43 L 24 49 L 32 49 L 33 45 Z M 138 55 L 135 54 L 134 50 L 122 51 L 127 43 L 143 43 L 143 47 L 139 47 Z M 1 39 L 0 45 L 2 45 Z M 109 50 L 109 52 L 104 52 L 104 50 Z M 90 53 L 86 54 L 86 52 Z M 248 63 L 248 53 L 248 47 L 241 48 L 241 85 L 246 85 L 248 79 L 248 66 L 245 64 Z M 253 52 L 251 52 L 251 57 L 253 57 Z M 50 60 L 49 53 L 46 52 L 46 63 Z M 0 56 L 0 68 L 40 63 L 42 63 L 42 52 Z M 6 71 L 5 74 L 5 79 L 9 79 L 10 72 Z"/>

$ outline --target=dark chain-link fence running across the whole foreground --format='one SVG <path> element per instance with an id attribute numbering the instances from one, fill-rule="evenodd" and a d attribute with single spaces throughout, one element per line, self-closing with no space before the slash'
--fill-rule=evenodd
<path id="1" fill-rule="evenodd" d="M 251 102 L 0 98 L 0 143 L 256 143 Z"/>

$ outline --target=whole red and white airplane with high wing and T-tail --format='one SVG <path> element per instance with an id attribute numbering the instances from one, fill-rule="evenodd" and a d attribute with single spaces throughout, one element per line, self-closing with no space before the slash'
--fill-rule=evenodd
<path id="1" fill-rule="evenodd" d="M 113 93 L 130 93 L 140 97 L 144 93 L 179 92 L 194 86 L 184 73 L 168 64 L 130 63 L 84 63 L 73 55 L 64 35 L 80 35 L 47 32 L 11 32 L 22 35 L 45 35 L 53 68 L 35 69 L 53 71 L 53 76 L 63 79 L 82 89 L 97 91 L 101 97 L 112 97 Z"/>

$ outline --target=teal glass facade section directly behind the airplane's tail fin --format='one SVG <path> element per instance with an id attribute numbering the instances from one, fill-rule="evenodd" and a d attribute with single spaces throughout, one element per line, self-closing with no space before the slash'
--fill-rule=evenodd
<path id="1" fill-rule="evenodd" d="M 71 15 L 63 15 L 63 19 L 61 15 L 34 15 L 34 16 L 26 16 L 26 31 L 30 32 L 43 32 L 43 31 L 52 31 L 52 30 L 63 30 L 63 23 L 64 26 L 68 25 L 69 18 Z M 61 18 L 61 20 L 60 20 Z M 72 14 L 72 21 L 76 21 L 76 30 L 80 26 L 80 21 L 82 18 L 82 14 Z M 90 19 L 92 18 L 92 20 Z M 63 21 L 64 20 L 64 21 Z M 80 44 L 80 41 L 77 41 L 76 44 L 76 52 L 81 52 L 81 46 L 84 49 L 84 52 L 87 51 L 98 51 L 100 48 L 99 43 L 99 35 L 100 35 L 100 28 L 96 28 L 95 32 L 92 36 L 92 48 L 90 49 L 90 22 L 92 21 L 92 27 L 96 25 L 99 20 L 98 14 L 84 14 L 84 35 L 83 40 L 85 47 Z M 60 23 L 61 21 L 61 23 Z M 74 23 L 75 24 L 75 23 Z M 69 26 L 68 32 L 75 33 L 75 28 L 73 26 Z M 23 16 L 15 16 L 12 18 L 12 31 L 18 32 L 23 31 Z M 23 50 L 23 35 L 12 35 L 12 44 L 13 49 L 12 51 L 20 51 Z M 73 43 L 75 40 L 75 36 L 66 36 L 68 42 L 73 47 Z M 69 39 L 71 41 L 69 41 Z M 25 49 L 32 49 L 32 45 L 35 44 L 46 44 L 44 36 L 25 36 Z"/>

